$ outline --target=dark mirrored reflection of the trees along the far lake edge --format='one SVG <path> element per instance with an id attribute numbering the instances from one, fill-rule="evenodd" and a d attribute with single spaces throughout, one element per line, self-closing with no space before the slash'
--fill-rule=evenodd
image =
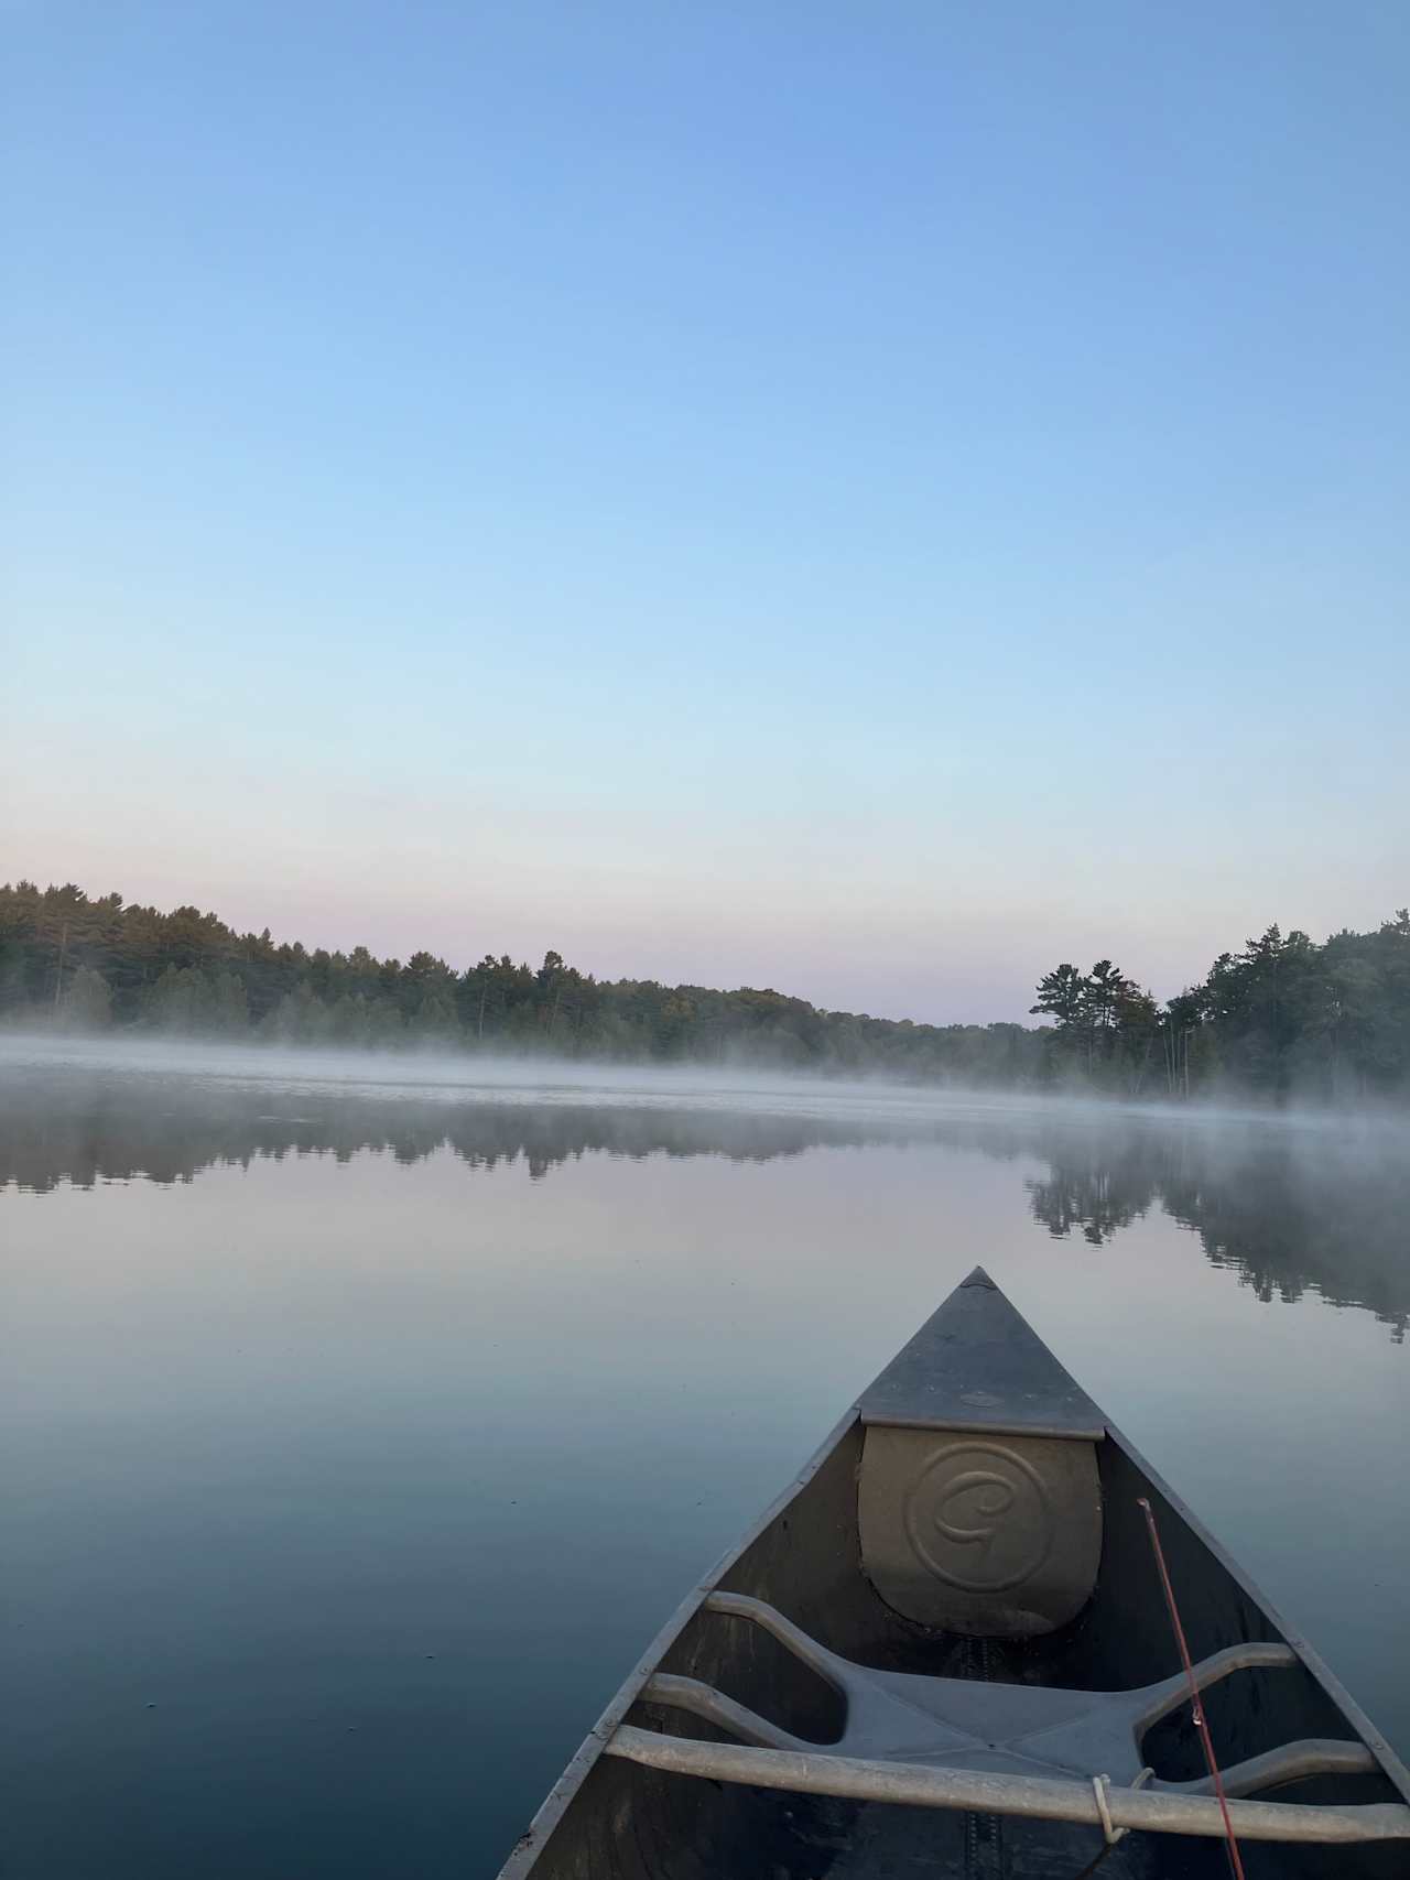
<path id="1" fill-rule="evenodd" d="M 767 1162 L 823 1147 L 966 1149 L 1045 1164 L 1028 1179 L 1034 1220 L 1100 1246 L 1151 1209 L 1199 1235 L 1214 1267 L 1260 1299 L 1316 1292 L 1391 1327 L 1410 1324 L 1410 1154 L 1395 1124 L 1320 1126 L 1083 1109 L 910 1107 L 848 1115 L 724 1107 L 720 1096 L 652 1102 L 532 1100 L 414 1087 L 8 1068 L 0 1072 L 0 1184 L 47 1192 L 286 1156 L 447 1151 L 470 1169 L 523 1162 L 534 1179 L 583 1156 L 724 1156 Z M 822 1107 L 822 1105 L 814 1105 Z"/>

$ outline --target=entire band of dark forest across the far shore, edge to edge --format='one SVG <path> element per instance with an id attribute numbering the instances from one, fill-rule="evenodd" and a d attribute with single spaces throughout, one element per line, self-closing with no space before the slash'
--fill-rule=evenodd
<path id="1" fill-rule="evenodd" d="M 1166 1006 L 1111 961 L 1087 974 L 1060 964 L 1032 1010 L 1051 1023 L 914 1025 L 750 987 L 596 979 L 558 953 L 538 968 L 487 953 L 455 972 L 432 953 L 276 944 L 199 908 L 162 914 L 73 884 L 0 887 L 0 1019 L 11 1026 L 1329 1102 L 1410 1094 L 1410 912 L 1322 944 L 1269 927 Z"/>

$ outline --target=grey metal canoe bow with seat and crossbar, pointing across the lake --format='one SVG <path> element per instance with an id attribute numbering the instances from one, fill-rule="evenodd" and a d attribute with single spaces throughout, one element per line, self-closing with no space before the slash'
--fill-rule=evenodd
<path id="1" fill-rule="evenodd" d="M 500 1880 L 1096 1869 L 1406 1880 L 1410 1775 L 976 1267 L 690 1592 Z"/>

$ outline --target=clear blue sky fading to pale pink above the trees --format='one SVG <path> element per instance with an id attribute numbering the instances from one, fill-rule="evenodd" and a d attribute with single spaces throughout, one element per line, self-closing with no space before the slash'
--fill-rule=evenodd
<path id="1" fill-rule="evenodd" d="M 929 1021 L 1410 901 L 1401 0 L 0 38 L 0 880 Z"/>

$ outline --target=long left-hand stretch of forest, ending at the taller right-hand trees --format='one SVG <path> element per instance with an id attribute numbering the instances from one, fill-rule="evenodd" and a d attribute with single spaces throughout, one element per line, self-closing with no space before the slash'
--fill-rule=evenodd
<path id="1" fill-rule="evenodd" d="M 741 987 L 596 979 L 547 953 L 534 968 L 487 953 L 455 972 L 237 934 L 199 908 L 122 895 L 0 887 L 0 1017 L 70 1030 L 258 1038 L 291 1045 L 545 1051 L 654 1062 L 882 1072 L 901 1079 L 1034 1081 L 1042 1038 L 1023 1025 L 912 1025 L 820 1011 Z"/>

